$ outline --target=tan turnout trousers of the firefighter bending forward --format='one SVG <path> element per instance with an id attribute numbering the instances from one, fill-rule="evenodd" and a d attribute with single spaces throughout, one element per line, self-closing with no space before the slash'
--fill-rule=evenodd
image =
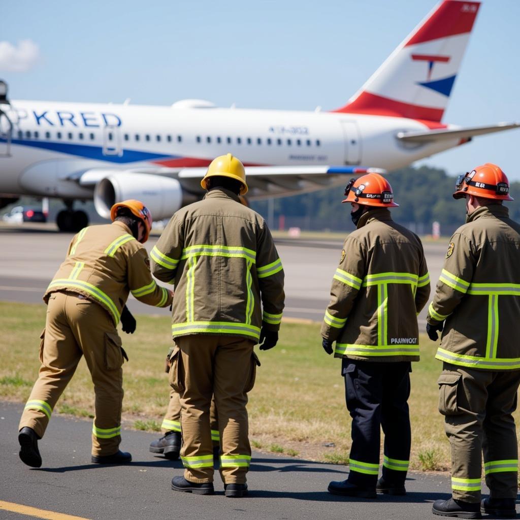
<path id="1" fill-rule="evenodd" d="M 96 396 L 92 454 L 116 453 L 121 443 L 123 354 L 112 318 L 97 303 L 71 292 L 56 292 L 49 298 L 41 339 L 40 373 L 19 430 L 29 426 L 43 437 L 56 402 L 85 356 Z"/>

